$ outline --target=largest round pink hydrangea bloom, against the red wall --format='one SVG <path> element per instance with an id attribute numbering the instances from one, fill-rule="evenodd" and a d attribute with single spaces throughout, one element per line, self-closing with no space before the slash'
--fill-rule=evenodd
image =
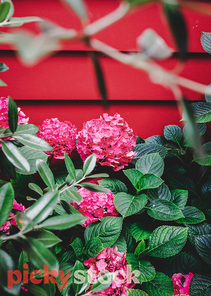
<path id="1" fill-rule="evenodd" d="M 77 150 L 82 160 L 95 153 L 100 165 L 112 166 L 114 171 L 131 162 L 135 152 L 136 135 L 118 113 L 107 113 L 83 124 L 77 135 Z"/>

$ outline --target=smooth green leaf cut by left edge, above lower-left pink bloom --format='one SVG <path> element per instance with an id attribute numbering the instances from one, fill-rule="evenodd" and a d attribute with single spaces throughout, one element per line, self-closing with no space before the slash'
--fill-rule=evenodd
<path id="1" fill-rule="evenodd" d="M 14 200 L 14 190 L 11 183 L 6 183 L 0 188 L 0 226 L 7 220 Z"/>

